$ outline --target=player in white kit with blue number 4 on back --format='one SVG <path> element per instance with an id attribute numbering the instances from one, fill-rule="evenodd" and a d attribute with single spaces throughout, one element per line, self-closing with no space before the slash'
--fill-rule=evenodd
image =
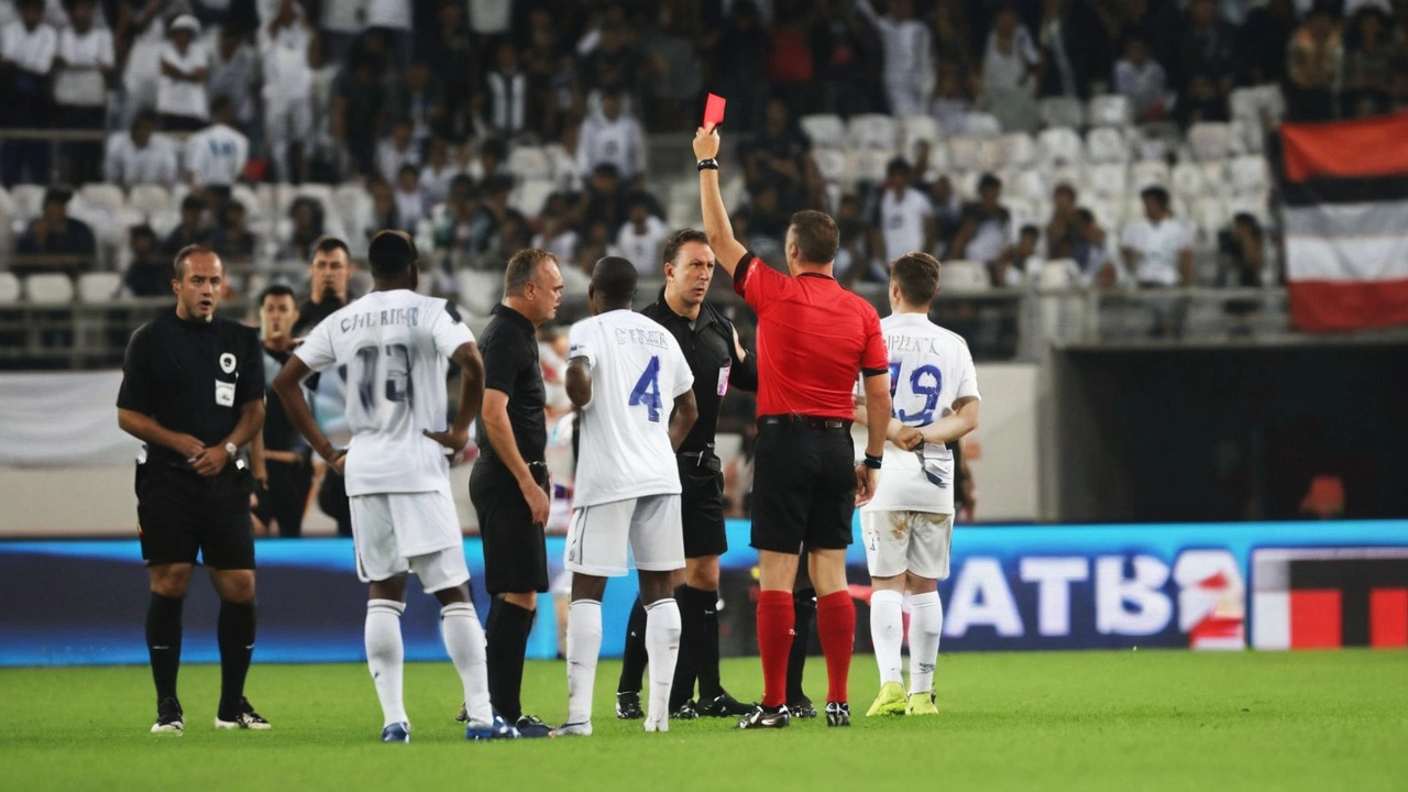
<path id="1" fill-rule="evenodd" d="M 694 373 L 669 330 L 631 310 L 635 265 L 607 256 L 591 272 L 591 318 L 567 337 L 567 397 L 582 416 L 577 481 L 565 565 L 567 720 L 556 734 L 591 734 L 601 652 L 601 595 L 624 576 L 628 550 L 641 575 L 650 703 L 646 731 L 670 727 L 670 685 L 680 650 L 673 574 L 684 568 L 680 471 L 674 451 L 698 417 Z M 670 402 L 673 400 L 673 403 Z M 673 407 L 673 413 L 672 413 Z"/>

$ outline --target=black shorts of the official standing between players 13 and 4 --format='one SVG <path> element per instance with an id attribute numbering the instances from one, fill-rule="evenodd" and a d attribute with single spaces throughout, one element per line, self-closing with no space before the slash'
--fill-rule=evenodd
<path id="1" fill-rule="evenodd" d="M 548 468 L 529 465 L 534 481 L 548 490 Z M 548 543 L 513 474 L 496 461 L 480 461 L 469 475 L 469 497 L 479 514 L 484 545 L 484 588 L 490 595 L 548 590 Z M 551 493 L 549 493 L 551 497 Z"/>

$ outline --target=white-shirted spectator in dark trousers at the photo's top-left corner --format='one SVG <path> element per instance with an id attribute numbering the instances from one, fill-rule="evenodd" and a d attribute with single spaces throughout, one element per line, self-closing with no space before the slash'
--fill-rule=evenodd
<path id="1" fill-rule="evenodd" d="M 58 49 L 58 32 L 44 23 L 44 0 L 20 0 L 20 17 L 0 30 L 0 123 L 6 127 L 46 128 L 52 118 L 49 72 Z M 46 185 L 49 144 L 44 140 L 10 140 L 0 154 L 0 180 Z"/>

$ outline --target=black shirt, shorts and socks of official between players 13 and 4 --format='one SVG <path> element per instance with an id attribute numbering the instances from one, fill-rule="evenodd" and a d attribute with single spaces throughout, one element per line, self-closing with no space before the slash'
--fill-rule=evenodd
<path id="1" fill-rule="evenodd" d="M 538 337 L 532 321 L 498 304 L 479 335 L 484 358 L 484 390 L 508 396 L 508 424 L 514 444 L 534 481 L 546 490 L 548 393 L 538 362 Z M 500 595 L 548 590 L 548 547 L 542 523 L 534 523 L 518 481 L 494 451 L 483 416 L 476 428 L 479 461 L 469 476 L 469 495 L 479 514 L 484 547 L 484 588 L 494 602 L 484 636 L 489 641 L 489 696 L 508 723 L 522 713 L 524 652 L 532 631 L 534 612 Z"/>

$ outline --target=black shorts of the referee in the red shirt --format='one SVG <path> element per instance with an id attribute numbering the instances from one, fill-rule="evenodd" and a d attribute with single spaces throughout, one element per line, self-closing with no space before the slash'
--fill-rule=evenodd
<path id="1" fill-rule="evenodd" d="M 856 510 L 850 421 L 763 416 L 758 424 L 750 544 L 791 554 L 803 544 L 850 547 Z"/>

